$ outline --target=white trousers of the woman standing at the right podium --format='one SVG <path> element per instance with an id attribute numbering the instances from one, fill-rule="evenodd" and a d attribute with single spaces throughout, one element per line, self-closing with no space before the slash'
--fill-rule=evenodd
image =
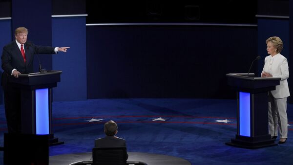
<path id="1" fill-rule="evenodd" d="M 269 109 L 269 134 L 278 136 L 278 125 L 280 138 L 288 136 L 288 118 L 287 118 L 287 97 L 276 99 L 269 92 L 268 96 Z"/>

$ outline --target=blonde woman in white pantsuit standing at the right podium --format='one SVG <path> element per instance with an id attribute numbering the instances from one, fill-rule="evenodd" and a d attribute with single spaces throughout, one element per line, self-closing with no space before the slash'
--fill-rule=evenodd
<path id="1" fill-rule="evenodd" d="M 279 37 L 269 37 L 266 40 L 269 56 L 265 58 L 265 65 L 261 77 L 281 77 L 280 85 L 276 90 L 270 91 L 268 95 L 269 134 L 272 139 L 278 136 L 279 144 L 286 142 L 288 137 L 287 119 L 287 97 L 290 96 L 287 79 L 289 78 L 289 67 L 286 57 L 280 54 L 283 42 Z"/>

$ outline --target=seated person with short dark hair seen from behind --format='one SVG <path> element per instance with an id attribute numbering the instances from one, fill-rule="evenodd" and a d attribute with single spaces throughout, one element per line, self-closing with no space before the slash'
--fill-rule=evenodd
<path id="1" fill-rule="evenodd" d="M 115 136 L 118 132 L 118 126 L 110 120 L 104 125 L 104 132 L 106 136 L 95 140 L 95 147 L 126 147 L 126 141 Z"/>

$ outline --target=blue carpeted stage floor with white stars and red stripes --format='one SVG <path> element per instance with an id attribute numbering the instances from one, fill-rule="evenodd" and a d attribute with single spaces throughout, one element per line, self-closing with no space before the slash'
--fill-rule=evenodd
<path id="1" fill-rule="evenodd" d="M 293 105 L 288 105 L 293 125 Z M 164 118 L 165 121 L 153 121 Z M 89 122 L 90 119 L 103 119 Z M 229 122 L 217 122 L 218 120 Z M 64 145 L 50 147 L 50 156 L 90 152 L 104 137 L 108 120 L 118 124 L 117 136 L 128 151 L 181 157 L 192 165 L 293 165 L 293 127 L 286 144 L 259 149 L 226 146 L 236 134 L 236 100 L 217 99 L 93 99 L 53 103 L 54 135 Z M 0 106 L 0 146 L 6 132 Z M 278 139 L 277 139 L 278 140 Z M 2 159 L 2 152 L 0 152 Z"/>

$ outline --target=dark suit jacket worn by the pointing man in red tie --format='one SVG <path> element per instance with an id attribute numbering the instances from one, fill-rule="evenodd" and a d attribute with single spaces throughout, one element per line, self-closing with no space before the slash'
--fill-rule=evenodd
<path id="1" fill-rule="evenodd" d="M 23 48 L 26 62 L 24 62 L 21 51 L 15 40 L 3 47 L 1 59 L 2 69 L 5 73 L 11 74 L 13 69 L 16 69 L 21 74 L 33 73 L 33 60 L 35 54 L 55 54 L 54 47 L 38 46 L 30 41 L 26 41 Z"/>

